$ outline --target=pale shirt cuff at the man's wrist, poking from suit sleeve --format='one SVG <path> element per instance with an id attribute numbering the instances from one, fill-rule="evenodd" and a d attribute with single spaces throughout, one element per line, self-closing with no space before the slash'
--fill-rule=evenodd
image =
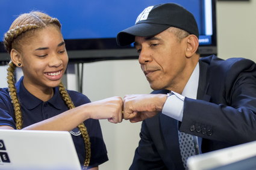
<path id="1" fill-rule="evenodd" d="M 162 113 L 175 120 L 182 121 L 185 97 L 173 91 L 170 94 L 164 103 Z"/>

